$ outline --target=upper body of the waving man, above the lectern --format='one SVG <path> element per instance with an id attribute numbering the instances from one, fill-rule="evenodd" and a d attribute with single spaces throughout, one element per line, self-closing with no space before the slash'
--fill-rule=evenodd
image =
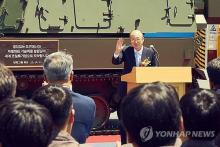
<path id="1" fill-rule="evenodd" d="M 158 66 L 157 52 L 153 47 L 144 47 L 144 37 L 141 31 L 130 33 L 130 46 L 124 46 L 124 39 L 118 39 L 112 63 L 115 65 L 124 62 L 123 74 L 131 72 L 134 66 Z"/>

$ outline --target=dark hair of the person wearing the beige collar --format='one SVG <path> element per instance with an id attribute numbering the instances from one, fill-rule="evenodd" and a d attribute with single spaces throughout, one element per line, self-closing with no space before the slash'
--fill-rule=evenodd
<path id="1" fill-rule="evenodd" d="M 61 130 L 72 108 L 69 91 L 62 86 L 49 84 L 36 90 L 32 99 L 49 109 L 55 125 Z"/>

